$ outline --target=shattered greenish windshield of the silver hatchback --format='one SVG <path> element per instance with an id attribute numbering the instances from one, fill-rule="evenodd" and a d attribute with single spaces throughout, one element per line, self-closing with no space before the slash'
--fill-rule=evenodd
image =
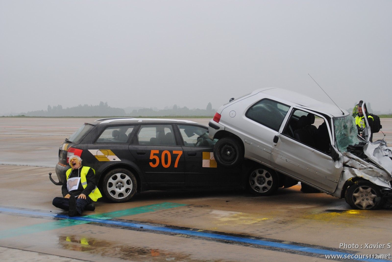
<path id="1" fill-rule="evenodd" d="M 358 137 L 358 128 L 352 116 L 334 117 L 336 146 L 340 152 L 347 152 L 347 146 L 363 142 Z"/>

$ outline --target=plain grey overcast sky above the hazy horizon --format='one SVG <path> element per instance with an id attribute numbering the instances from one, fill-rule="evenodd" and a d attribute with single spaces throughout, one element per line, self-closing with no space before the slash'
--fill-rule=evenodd
<path id="1" fill-rule="evenodd" d="M 0 0 L 0 115 L 219 108 L 281 87 L 390 112 L 392 1 Z"/>

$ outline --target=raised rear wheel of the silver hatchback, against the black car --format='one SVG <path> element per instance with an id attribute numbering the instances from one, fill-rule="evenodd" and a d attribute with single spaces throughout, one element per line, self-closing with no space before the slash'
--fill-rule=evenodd
<path id="1" fill-rule="evenodd" d="M 216 162 L 225 167 L 238 166 L 242 163 L 244 152 L 240 141 L 234 137 L 223 137 L 214 145 Z"/>

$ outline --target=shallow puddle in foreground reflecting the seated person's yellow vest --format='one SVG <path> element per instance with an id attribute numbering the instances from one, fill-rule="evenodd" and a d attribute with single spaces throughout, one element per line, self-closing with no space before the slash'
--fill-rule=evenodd
<path id="1" fill-rule="evenodd" d="M 143 262 L 165 262 L 165 261 L 183 261 L 183 262 L 203 262 L 211 260 L 199 260 L 192 258 L 189 254 L 171 253 L 160 249 L 148 249 L 143 247 L 131 247 L 119 245 L 108 241 L 85 238 L 78 236 L 60 236 L 58 238 L 60 248 L 88 252 L 102 257 L 120 258 L 123 260 L 132 259 L 132 261 Z M 220 262 L 223 260 L 214 260 Z"/>

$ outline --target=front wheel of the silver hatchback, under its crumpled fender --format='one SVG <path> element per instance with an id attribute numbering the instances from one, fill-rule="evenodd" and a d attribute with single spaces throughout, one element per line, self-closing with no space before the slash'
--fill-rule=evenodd
<path id="1" fill-rule="evenodd" d="M 345 192 L 346 202 L 354 209 L 372 210 L 382 205 L 382 201 L 376 201 L 381 197 L 381 192 L 375 184 L 367 181 L 359 181 L 350 185 Z"/>

